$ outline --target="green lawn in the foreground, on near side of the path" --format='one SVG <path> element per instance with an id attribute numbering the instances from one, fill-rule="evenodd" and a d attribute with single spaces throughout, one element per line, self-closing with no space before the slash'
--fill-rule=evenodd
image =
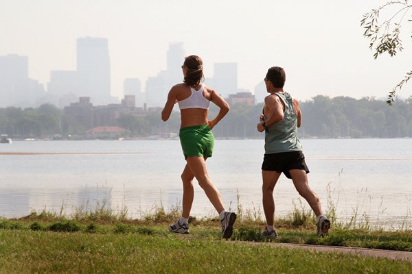
<path id="1" fill-rule="evenodd" d="M 98 225 L 99 233 L 0 230 L 0 273 L 411 273 L 385 258 L 219 240 L 218 229 Z M 84 229 L 84 227 L 83 227 Z"/>

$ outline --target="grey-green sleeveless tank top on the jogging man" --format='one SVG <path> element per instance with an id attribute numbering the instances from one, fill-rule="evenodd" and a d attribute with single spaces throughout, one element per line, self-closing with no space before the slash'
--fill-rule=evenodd
<path id="1" fill-rule="evenodd" d="M 266 154 L 288 151 L 301 151 L 302 145 L 297 138 L 297 114 L 293 110 L 292 97 L 288 92 L 271 92 L 285 105 L 284 119 L 269 125 L 265 130 L 264 151 Z"/>

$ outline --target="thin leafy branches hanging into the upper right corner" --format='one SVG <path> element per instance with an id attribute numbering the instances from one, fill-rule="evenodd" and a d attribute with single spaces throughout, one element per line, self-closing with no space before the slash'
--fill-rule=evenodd
<path id="1" fill-rule="evenodd" d="M 378 18 L 380 12 L 389 8 L 391 5 L 398 6 L 397 12 L 387 20 L 379 23 Z M 388 53 L 392 57 L 402 51 L 402 40 L 399 38 L 400 27 L 411 8 L 412 5 L 408 4 L 408 0 L 389 1 L 385 3 L 385 5 L 381 5 L 379 8 L 371 10 L 371 12 L 363 15 L 363 19 L 361 20 L 361 26 L 365 28 L 363 36 L 369 38 L 369 49 L 374 50 L 375 59 L 382 53 Z M 407 21 L 411 22 L 412 19 Z M 388 105 L 392 105 L 392 102 L 395 101 L 396 91 L 400 90 L 410 79 L 412 79 L 412 71 L 409 71 L 404 79 L 402 79 L 402 81 L 389 92 L 387 98 Z"/>

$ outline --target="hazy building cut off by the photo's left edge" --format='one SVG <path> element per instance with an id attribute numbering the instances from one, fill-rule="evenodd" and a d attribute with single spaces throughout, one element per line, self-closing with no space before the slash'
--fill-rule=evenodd
<path id="1" fill-rule="evenodd" d="M 27 56 L 0 56 L 0 108 L 36 107 L 36 100 L 43 95 L 43 85 L 29 78 Z"/>

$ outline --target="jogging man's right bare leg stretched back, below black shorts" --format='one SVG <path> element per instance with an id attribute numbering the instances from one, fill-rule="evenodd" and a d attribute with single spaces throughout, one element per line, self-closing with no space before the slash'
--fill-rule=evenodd
<path id="1" fill-rule="evenodd" d="M 316 216 L 321 215 L 321 201 L 319 201 L 319 197 L 317 197 L 316 193 L 309 187 L 306 171 L 301 169 L 291 169 L 289 173 L 299 195 L 308 201 L 310 208 L 312 208 Z"/>

